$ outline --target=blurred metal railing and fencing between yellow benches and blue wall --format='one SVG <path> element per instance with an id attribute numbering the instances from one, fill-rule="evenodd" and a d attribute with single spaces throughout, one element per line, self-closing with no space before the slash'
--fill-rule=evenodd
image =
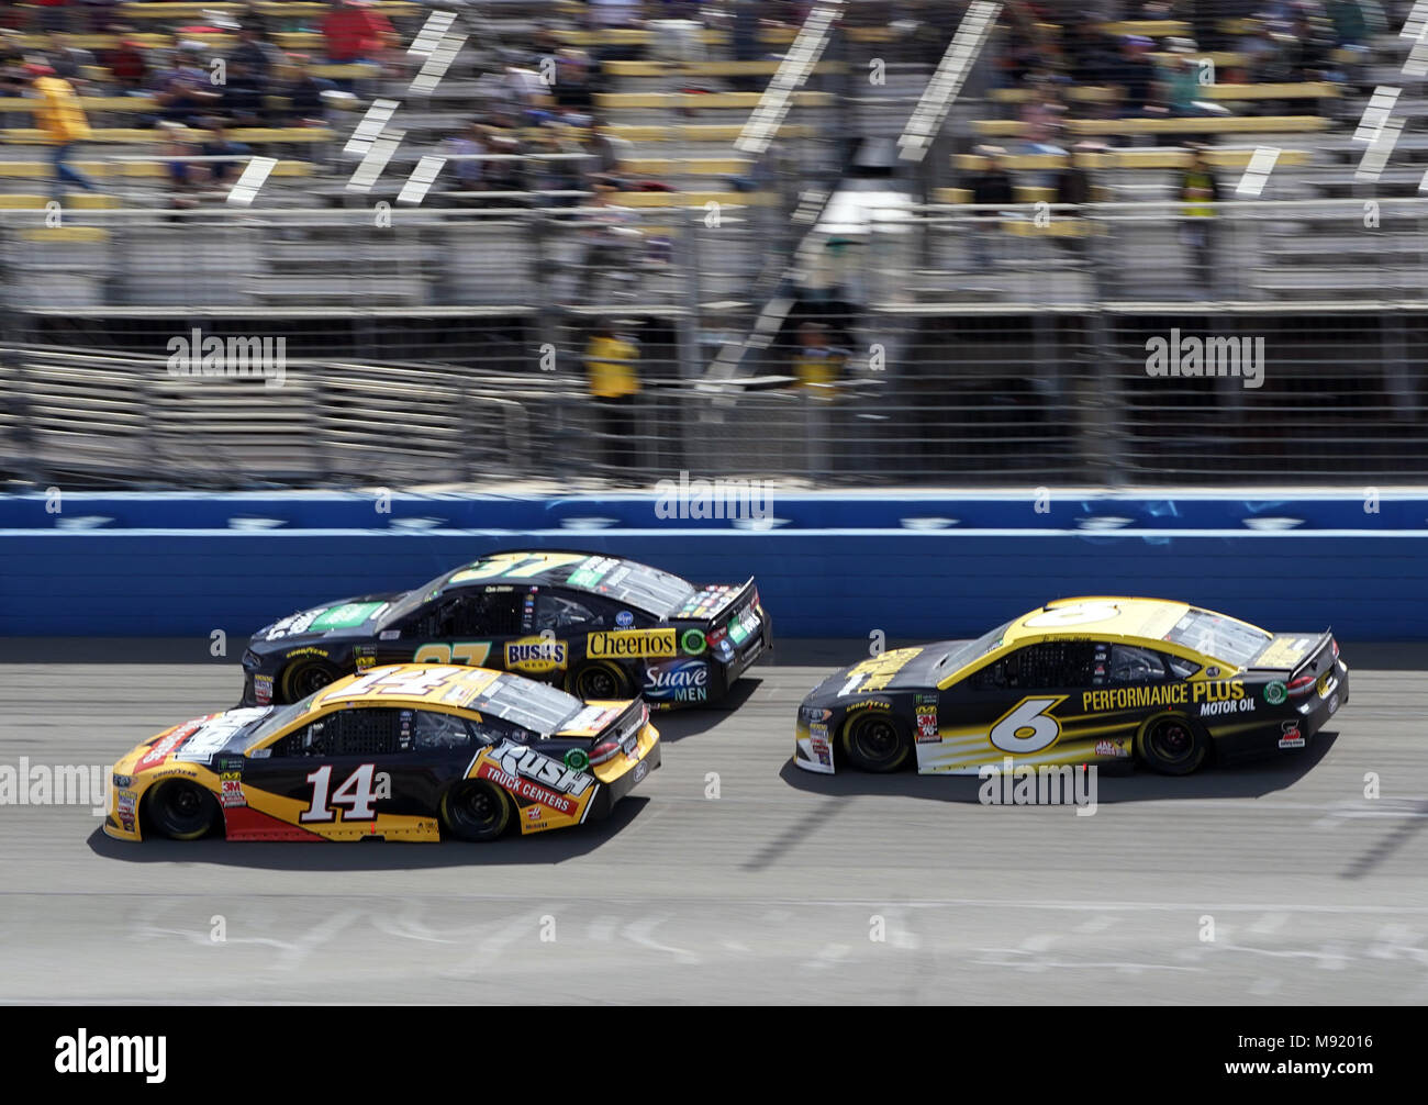
<path id="1" fill-rule="evenodd" d="M 384 227 L 347 208 L 86 211 L 107 236 L 74 240 L 7 213 L 3 471 L 170 487 L 1428 477 L 1425 201 L 1384 198 L 1368 221 L 1361 200 L 1225 203 L 1214 220 L 905 203 L 800 238 L 791 198 L 643 210 L 625 253 L 593 248 L 588 208 L 417 207 Z M 1197 250 L 1184 230 L 1211 223 Z M 624 403 L 591 395 L 601 326 L 637 338 Z M 170 343 L 203 337 L 281 338 L 281 385 L 201 358 L 173 373 Z M 1197 343 L 1224 371 L 1192 374 Z M 814 354 L 835 383 L 798 387 Z"/>

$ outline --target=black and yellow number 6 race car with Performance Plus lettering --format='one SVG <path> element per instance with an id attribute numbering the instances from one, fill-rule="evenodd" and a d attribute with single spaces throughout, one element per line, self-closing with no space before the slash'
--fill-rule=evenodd
<path id="1" fill-rule="evenodd" d="M 798 710 L 794 762 L 971 774 L 1135 760 L 1188 775 L 1304 748 L 1348 701 L 1331 632 L 1269 634 L 1158 598 L 1065 598 L 975 641 L 844 668 Z"/>

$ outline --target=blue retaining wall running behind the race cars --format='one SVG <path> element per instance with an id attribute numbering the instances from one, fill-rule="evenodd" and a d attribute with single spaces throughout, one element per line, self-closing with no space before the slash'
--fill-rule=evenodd
<path id="1" fill-rule="evenodd" d="M 783 494 L 773 518 L 655 497 L 0 497 L 0 634 L 246 635 L 513 545 L 757 575 L 780 635 L 957 637 L 1072 594 L 1185 598 L 1279 630 L 1428 638 L 1428 495 Z M 754 505 L 763 505 L 754 500 Z"/>

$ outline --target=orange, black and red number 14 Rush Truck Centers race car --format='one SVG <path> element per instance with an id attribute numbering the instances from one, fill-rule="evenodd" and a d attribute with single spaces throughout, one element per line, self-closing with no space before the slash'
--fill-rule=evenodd
<path id="1" fill-rule="evenodd" d="M 126 841 L 490 841 L 607 817 L 653 768 L 638 700 L 581 702 L 486 668 L 404 664 L 287 707 L 166 730 L 114 765 Z"/>

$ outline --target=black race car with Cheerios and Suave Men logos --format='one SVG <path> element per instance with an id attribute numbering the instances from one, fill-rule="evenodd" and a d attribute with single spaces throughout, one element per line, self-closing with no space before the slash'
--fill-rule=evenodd
<path id="1" fill-rule="evenodd" d="M 294 702 L 384 664 L 473 664 L 580 698 L 654 710 L 723 697 L 773 644 L 753 580 L 695 587 L 597 552 L 497 552 L 423 587 L 266 625 L 243 654 L 243 705 Z"/>

